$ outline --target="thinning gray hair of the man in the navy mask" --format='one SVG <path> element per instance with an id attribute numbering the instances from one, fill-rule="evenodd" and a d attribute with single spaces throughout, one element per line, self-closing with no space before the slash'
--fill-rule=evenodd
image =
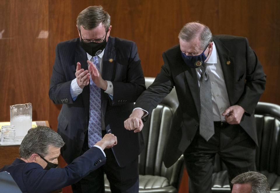
<path id="1" fill-rule="evenodd" d="M 206 46 L 213 41 L 212 33 L 209 27 L 199 22 L 190 22 L 185 24 L 178 35 L 179 39 L 186 42 L 189 42 L 196 37 L 199 37 L 201 42 L 199 46 L 200 49 L 205 49 Z"/>

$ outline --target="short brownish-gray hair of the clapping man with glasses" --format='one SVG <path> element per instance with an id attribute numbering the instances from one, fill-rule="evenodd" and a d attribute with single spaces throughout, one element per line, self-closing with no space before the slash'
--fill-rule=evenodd
<path id="1" fill-rule="evenodd" d="M 79 13 L 77 17 L 77 25 L 79 30 L 81 30 L 81 26 L 83 26 L 85 30 L 90 30 L 102 23 L 107 31 L 110 27 L 110 20 L 110 15 L 104 11 L 101 5 L 89 6 Z"/>

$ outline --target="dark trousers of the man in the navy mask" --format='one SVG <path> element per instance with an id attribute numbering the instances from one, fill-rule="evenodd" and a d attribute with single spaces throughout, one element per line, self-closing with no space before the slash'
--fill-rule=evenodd
<path id="1" fill-rule="evenodd" d="M 255 171 L 256 145 L 239 124 L 214 122 L 215 134 L 206 141 L 197 131 L 184 152 L 189 176 L 189 193 L 211 193 L 216 153 L 227 166 L 229 180 L 246 171 Z"/>

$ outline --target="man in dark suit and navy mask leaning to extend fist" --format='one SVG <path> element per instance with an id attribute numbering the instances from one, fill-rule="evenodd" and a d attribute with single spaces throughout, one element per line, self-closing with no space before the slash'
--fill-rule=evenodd
<path id="1" fill-rule="evenodd" d="M 141 131 L 142 119 L 175 87 L 179 106 L 164 164 L 171 166 L 183 154 L 189 192 L 206 193 L 211 192 L 216 153 L 226 164 L 230 179 L 255 170 L 254 108 L 265 89 L 266 75 L 246 38 L 212 36 L 207 26 L 197 22 L 185 24 L 178 38 L 179 45 L 163 52 L 162 69 L 137 99 L 125 128 Z M 203 73 L 202 68 L 206 68 Z M 209 94 L 200 91 L 205 82 Z M 210 104 L 207 110 L 205 97 L 209 98 L 206 105 Z"/>

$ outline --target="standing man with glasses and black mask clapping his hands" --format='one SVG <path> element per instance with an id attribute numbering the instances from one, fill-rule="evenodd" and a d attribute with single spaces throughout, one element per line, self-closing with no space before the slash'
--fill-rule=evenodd
<path id="1" fill-rule="evenodd" d="M 69 164 L 106 133 L 118 145 L 105 151 L 107 162 L 76 185 L 73 192 L 104 192 L 104 172 L 112 192 L 138 192 L 138 155 L 143 136 L 123 122 L 145 87 L 136 44 L 110 35 L 110 16 L 101 6 L 79 13 L 80 38 L 56 47 L 50 99 L 63 103 L 57 132 L 66 145 L 62 157 Z"/>

